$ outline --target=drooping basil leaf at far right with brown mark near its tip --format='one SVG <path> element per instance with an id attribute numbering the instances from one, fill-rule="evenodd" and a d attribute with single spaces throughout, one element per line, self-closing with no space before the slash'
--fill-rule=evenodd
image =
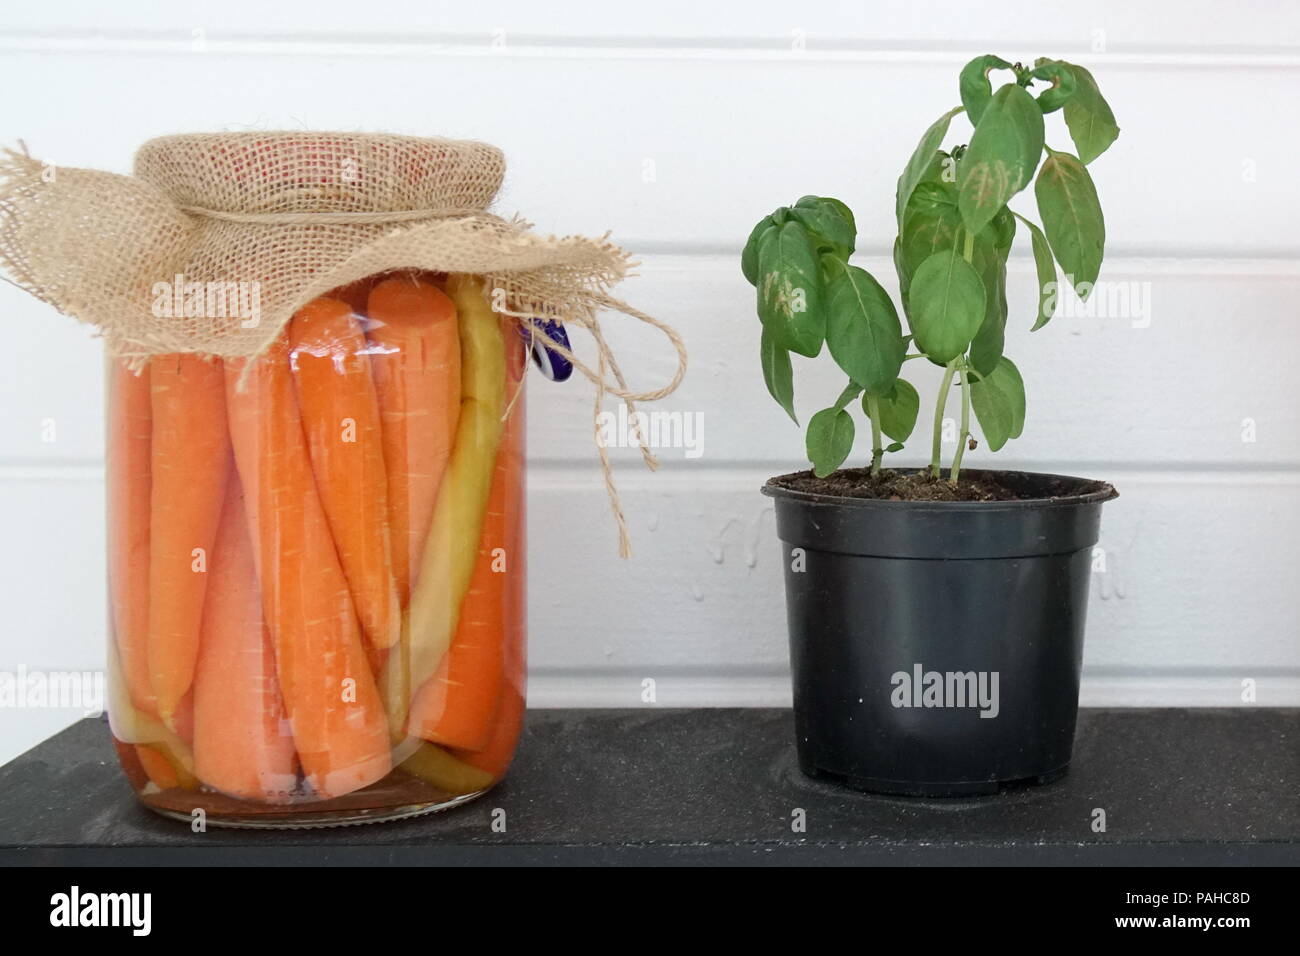
<path id="1" fill-rule="evenodd" d="M 1087 299 L 1101 272 L 1106 221 L 1088 168 L 1067 152 L 1053 152 L 1034 186 L 1048 242 L 1075 294 Z"/>

